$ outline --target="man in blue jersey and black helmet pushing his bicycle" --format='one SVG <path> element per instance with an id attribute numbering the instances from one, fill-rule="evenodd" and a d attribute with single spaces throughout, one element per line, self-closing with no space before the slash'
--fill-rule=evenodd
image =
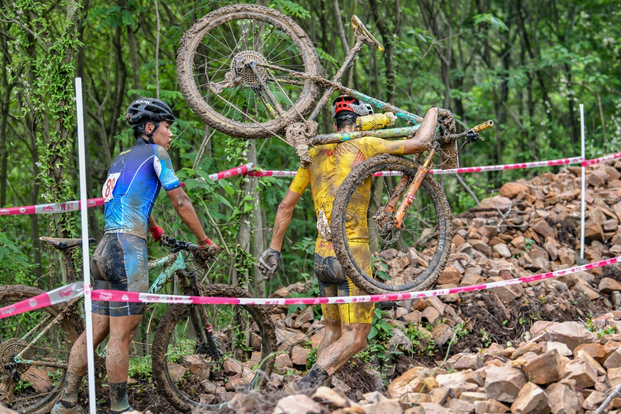
<path id="1" fill-rule="evenodd" d="M 163 233 L 151 215 L 160 188 L 197 237 L 199 246 L 213 243 L 203 231 L 166 152 L 173 137 L 170 126 L 175 122 L 169 106 L 159 99 L 137 99 L 127 108 L 125 119 L 134 129 L 136 144 L 117 155 L 102 188 L 106 227 L 91 258 L 91 273 L 94 289 L 147 292 L 147 232 L 154 241 Z M 201 254 L 204 259 L 209 257 L 206 251 Z M 110 336 L 106 369 L 111 414 L 132 410 L 127 402 L 129 346 L 144 310 L 143 303 L 93 301 L 94 345 Z M 84 413 L 77 405 L 84 374 L 86 333 L 71 348 L 65 387 L 52 414 Z"/>

